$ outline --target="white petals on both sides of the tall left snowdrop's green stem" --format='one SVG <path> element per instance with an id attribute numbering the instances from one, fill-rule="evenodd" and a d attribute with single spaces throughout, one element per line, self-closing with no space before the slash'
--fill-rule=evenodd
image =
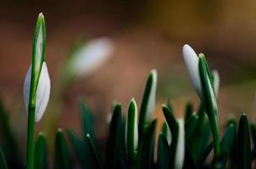
<path id="1" fill-rule="evenodd" d="M 38 85 L 36 89 L 36 112 L 35 119 L 36 122 L 39 122 L 42 118 L 43 112 L 47 107 L 47 103 L 49 101 L 51 90 L 51 82 L 47 70 L 47 64 L 42 63 L 42 70 L 38 80 Z M 31 67 L 29 68 L 24 82 L 24 101 L 25 101 L 25 109 L 28 112 L 29 101 L 30 101 L 30 92 L 31 92 Z"/>

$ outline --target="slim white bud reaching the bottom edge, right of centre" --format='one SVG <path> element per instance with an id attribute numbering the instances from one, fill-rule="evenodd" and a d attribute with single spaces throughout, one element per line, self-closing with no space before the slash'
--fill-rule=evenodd
<path id="1" fill-rule="evenodd" d="M 175 155 L 175 169 L 181 169 L 183 167 L 185 158 L 185 131 L 184 121 L 181 118 L 177 119 L 179 125 L 178 143 Z"/>

